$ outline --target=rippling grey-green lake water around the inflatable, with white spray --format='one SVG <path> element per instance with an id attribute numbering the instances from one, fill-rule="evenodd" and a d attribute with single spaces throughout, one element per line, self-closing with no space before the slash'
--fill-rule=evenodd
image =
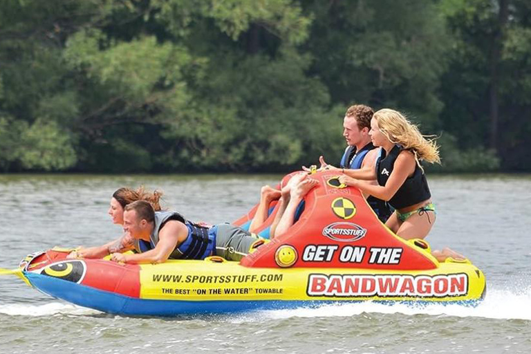
<path id="1" fill-rule="evenodd" d="M 165 192 L 194 221 L 234 221 L 280 176 L 0 176 L 0 267 L 55 245 L 120 235 L 106 214 L 123 185 Z M 427 241 L 485 272 L 475 308 L 342 304 L 239 315 L 134 318 L 43 295 L 0 276 L 0 353 L 530 353 L 531 176 L 429 176 Z"/>

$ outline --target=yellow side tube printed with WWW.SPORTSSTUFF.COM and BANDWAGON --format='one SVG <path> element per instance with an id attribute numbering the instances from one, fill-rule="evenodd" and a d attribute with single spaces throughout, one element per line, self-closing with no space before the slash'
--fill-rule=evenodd
<path id="1" fill-rule="evenodd" d="M 245 268 L 210 257 L 140 265 L 140 298 L 173 301 L 470 301 L 485 293 L 474 265 L 451 259 L 434 270 Z"/>

